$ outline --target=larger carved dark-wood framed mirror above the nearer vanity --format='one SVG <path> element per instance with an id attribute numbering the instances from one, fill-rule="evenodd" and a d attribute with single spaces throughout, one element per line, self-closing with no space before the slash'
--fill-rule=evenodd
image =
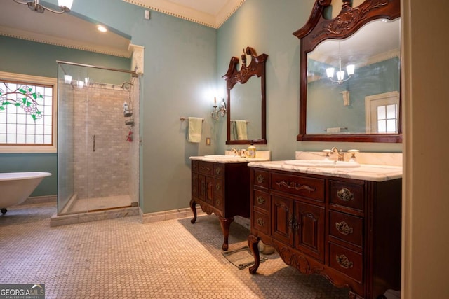
<path id="1" fill-rule="evenodd" d="M 400 0 L 366 0 L 326 19 L 316 0 L 301 29 L 298 141 L 401 142 Z"/>

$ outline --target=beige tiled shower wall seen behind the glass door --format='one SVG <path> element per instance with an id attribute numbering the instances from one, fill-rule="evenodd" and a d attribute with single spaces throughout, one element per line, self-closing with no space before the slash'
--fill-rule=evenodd
<path id="1" fill-rule="evenodd" d="M 135 157 L 123 116 L 123 103 L 129 99 L 130 92 L 116 85 L 75 88 L 74 193 L 79 199 L 130 194 Z"/>

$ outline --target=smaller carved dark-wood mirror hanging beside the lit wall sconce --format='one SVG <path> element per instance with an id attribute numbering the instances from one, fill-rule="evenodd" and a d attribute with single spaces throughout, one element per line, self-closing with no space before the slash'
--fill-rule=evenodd
<path id="1" fill-rule="evenodd" d="M 246 55 L 251 61 L 246 62 Z M 267 54 L 257 55 L 247 47 L 239 58 L 232 57 L 226 80 L 227 141 L 226 144 L 267 144 L 265 62 Z M 239 83 L 239 84 L 237 84 Z"/>

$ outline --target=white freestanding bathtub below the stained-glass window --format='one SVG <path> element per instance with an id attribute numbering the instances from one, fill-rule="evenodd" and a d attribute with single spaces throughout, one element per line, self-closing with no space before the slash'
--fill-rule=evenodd
<path id="1" fill-rule="evenodd" d="M 0 210 L 6 214 L 6 208 L 21 204 L 29 197 L 49 172 L 8 172 L 0 173 Z"/>

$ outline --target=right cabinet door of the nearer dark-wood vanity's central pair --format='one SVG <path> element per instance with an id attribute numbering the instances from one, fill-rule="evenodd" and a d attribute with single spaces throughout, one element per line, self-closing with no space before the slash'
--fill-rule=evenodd
<path id="1" fill-rule="evenodd" d="M 295 202 L 295 247 L 324 261 L 324 208 Z"/>

